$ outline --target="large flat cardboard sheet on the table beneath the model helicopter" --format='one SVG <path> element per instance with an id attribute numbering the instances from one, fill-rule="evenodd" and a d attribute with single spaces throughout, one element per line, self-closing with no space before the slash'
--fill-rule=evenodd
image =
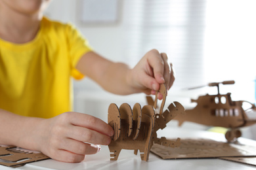
<path id="1" fill-rule="evenodd" d="M 154 144 L 151 152 L 162 159 L 244 157 L 256 156 L 256 147 L 223 143 L 210 139 L 182 139 L 178 148 Z"/>

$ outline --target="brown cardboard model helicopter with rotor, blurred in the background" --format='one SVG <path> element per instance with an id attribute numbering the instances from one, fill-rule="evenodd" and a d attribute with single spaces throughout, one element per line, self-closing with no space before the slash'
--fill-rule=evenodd
<path id="1" fill-rule="evenodd" d="M 220 94 L 219 84 L 234 84 L 234 80 L 224 82 L 212 82 L 207 86 L 216 86 L 217 95 L 202 95 L 198 99 L 191 99 L 191 102 L 196 102 L 194 109 L 186 109 L 186 116 L 177 116 L 175 120 L 179 121 L 179 126 L 183 122 L 195 122 L 206 126 L 219 126 L 229 128 L 226 131 L 225 137 L 229 142 L 236 141 L 241 137 L 240 127 L 251 126 L 256 123 L 256 119 L 249 119 L 247 113 L 256 111 L 254 104 L 248 101 L 232 101 L 231 93 Z M 196 88 L 201 88 L 196 87 Z M 190 88 L 195 89 L 195 88 Z M 243 103 L 249 103 L 250 108 L 244 110 Z"/>

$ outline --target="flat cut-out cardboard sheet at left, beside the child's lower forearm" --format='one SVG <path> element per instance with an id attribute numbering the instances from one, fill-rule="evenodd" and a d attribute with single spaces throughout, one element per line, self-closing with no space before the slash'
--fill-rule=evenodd
<path id="1" fill-rule="evenodd" d="M 26 152 L 16 146 L 0 146 L 0 165 L 19 167 L 33 161 L 50 159 L 41 152 Z"/>

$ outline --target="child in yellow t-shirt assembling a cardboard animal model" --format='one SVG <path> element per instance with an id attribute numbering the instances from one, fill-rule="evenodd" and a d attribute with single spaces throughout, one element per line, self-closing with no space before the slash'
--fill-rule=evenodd
<path id="1" fill-rule="evenodd" d="M 133 69 L 102 58 L 72 25 L 43 16 L 50 1 L 0 0 L 0 144 L 79 162 L 108 145 L 114 131 L 94 116 L 70 112 L 71 75 L 120 95 L 154 94 L 162 83 L 169 89 L 174 76 L 157 50 Z"/>

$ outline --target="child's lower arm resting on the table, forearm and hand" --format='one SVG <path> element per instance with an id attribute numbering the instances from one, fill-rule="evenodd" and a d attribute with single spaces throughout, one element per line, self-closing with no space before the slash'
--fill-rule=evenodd
<path id="1" fill-rule="evenodd" d="M 0 144 L 38 150 L 59 161 L 83 161 L 86 154 L 95 154 L 100 149 L 87 143 L 107 145 L 114 135 L 112 127 L 102 120 L 78 112 L 43 119 L 0 109 L 0 115 Z"/>

